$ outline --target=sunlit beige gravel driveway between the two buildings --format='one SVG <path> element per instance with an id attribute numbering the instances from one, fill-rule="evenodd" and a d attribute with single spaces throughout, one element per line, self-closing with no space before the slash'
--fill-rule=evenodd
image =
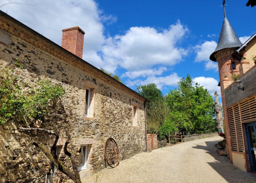
<path id="1" fill-rule="evenodd" d="M 125 159 L 114 169 L 103 169 L 83 183 L 256 183 L 214 146 L 220 137 L 166 146 Z"/>

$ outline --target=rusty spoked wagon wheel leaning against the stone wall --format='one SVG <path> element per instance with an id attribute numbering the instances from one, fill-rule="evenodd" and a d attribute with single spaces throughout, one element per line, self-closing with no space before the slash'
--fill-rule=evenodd
<path id="1" fill-rule="evenodd" d="M 117 142 L 113 138 L 108 138 L 104 144 L 104 157 L 108 165 L 112 168 L 117 167 L 120 160 L 120 153 Z"/>

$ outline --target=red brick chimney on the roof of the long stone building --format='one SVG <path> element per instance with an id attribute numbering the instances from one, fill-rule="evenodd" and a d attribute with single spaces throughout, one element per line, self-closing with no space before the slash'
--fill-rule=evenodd
<path id="1" fill-rule="evenodd" d="M 61 47 L 82 58 L 84 34 L 85 32 L 78 26 L 63 29 Z"/>

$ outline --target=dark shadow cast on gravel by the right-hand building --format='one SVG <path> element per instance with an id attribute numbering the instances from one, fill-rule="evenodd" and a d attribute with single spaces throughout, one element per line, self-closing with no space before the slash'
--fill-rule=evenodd
<path id="1" fill-rule="evenodd" d="M 215 158 L 214 162 L 207 162 L 219 175 L 226 179 L 229 183 L 255 183 L 256 179 L 245 175 L 245 173 L 238 167 L 230 163 L 226 156 L 219 156 L 217 151 L 217 144 L 219 141 L 206 141 L 206 146 L 195 144 L 192 147 L 195 149 L 203 149 L 207 154 Z"/>

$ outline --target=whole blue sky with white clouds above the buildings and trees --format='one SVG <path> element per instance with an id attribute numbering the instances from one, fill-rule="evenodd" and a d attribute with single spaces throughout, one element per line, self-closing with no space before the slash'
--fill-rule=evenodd
<path id="1" fill-rule="evenodd" d="M 117 74 L 132 89 L 156 83 L 162 92 L 189 74 L 211 94 L 219 82 L 209 60 L 224 19 L 222 0 L 1 0 L 0 9 L 61 44 L 61 30 L 85 32 L 83 59 Z M 227 18 L 245 42 L 255 31 L 256 8 L 247 0 L 226 0 Z M 77 7 L 78 6 L 78 7 Z"/>

